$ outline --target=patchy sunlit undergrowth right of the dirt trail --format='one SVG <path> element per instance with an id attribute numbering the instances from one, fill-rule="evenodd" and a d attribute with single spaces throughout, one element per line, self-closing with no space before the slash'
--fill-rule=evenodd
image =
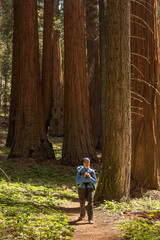
<path id="1" fill-rule="evenodd" d="M 122 230 L 123 239 L 160 240 L 159 199 L 150 196 L 128 203 L 105 201 L 100 208 L 109 215 L 119 216 L 117 226 Z"/>

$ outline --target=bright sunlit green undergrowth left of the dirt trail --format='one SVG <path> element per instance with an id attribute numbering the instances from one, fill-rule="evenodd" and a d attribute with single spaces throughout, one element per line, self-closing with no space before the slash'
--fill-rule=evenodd
<path id="1" fill-rule="evenodd" d="M 71 239 L 73 227 L 59 210 L 71 190 L 0 182 L 0 239 Z"/>

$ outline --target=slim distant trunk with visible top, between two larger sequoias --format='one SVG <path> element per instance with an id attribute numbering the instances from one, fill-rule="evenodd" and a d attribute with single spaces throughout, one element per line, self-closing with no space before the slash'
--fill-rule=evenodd
<path id="1" fill-rule="evenodd" d="M 53 95 L 52 95 L 52 115 L 50 120 L 49 135 L 62 137 L 64 134 L 64 94 L 63 94 L 63 74 L 62 55 L 60 43 L 60 31 L 54 31 L 53 42 Z"/>

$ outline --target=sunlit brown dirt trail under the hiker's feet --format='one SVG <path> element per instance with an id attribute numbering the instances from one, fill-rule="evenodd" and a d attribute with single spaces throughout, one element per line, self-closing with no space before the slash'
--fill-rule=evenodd
<path id="1" fill-rule="evenodd" d="M 62 205 L 61 210 L 70 218 L 70 224 L 76 227 L 73 240 L 120 240 L 120 230 L 115 225 L 116 217 L 109 217 L 103 211 L 94 210 L 94 224 L 86 219 L 77 221 L 79 217 L 79 202 L 69 202 Z"/>

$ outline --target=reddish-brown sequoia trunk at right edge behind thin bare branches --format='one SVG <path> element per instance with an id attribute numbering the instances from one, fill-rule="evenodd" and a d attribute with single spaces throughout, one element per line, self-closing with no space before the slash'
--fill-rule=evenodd
<path id="1" fill-rule="evenodd" d="M 131 3 L 132 187 L 140 188 L 158 186 L 159 96 L 153 88 L 159 88 L 156 2 Z"/>

